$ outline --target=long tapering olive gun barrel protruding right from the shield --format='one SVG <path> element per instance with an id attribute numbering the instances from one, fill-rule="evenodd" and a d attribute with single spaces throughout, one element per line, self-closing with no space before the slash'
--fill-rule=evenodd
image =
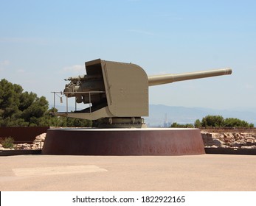
<path id="1" fill-rule="evenodd" d="M 189 72 L 189 73 L 181 73 L 181 74 L 163 74 L 163 75 L 154 75 L 148 77 L 148 85 L 163 85 L 169 84 L 172 82 L 179 82 L 184 80 L 190 79 L 201 79 L 207 77 L 215 77 L 221 75 L 228 75 L 232 74 L 231 68 L 222 68 L 222 69 L 215 69 L 209 71 L 196 71 L 196 72 Z"/>

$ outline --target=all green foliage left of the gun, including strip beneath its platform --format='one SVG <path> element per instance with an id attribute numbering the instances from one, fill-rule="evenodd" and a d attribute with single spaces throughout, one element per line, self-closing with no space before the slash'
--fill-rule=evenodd
<path id="1" fill-rule="evenodd" d="M 52 116 L 56 109 L 49 109 L 44 96 L 23 92 L 21 85 L 0 81 L 0 127 L 91 127 L 89 120 Z"/>

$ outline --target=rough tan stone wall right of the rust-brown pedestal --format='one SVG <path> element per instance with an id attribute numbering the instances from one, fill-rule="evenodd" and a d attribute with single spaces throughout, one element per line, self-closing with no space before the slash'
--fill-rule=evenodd
<path id="1" fill-rule="evenodd" d="M 201 131 L 201 135 L 206 147 L 256 149 L 256 133 Z"/>

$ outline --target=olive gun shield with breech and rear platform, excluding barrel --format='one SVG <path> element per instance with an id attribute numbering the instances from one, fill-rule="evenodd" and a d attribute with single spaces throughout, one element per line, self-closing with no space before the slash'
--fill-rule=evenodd
<path id="1" fill-rule="evenodd" d="M 70 77 L 63 93 L 89 108 L 59 116 L 98 119 L 148 116 L 148 76 L 132 63 L 86 62 L 86 75 Z"/>

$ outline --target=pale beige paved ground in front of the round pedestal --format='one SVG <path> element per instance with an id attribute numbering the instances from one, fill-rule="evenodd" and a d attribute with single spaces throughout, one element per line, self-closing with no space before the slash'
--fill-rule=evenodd
<path id="1" fill-rule="evenodd" d="M 256 191 L 256 156 L 0 157 L 0 191 Z"/>

